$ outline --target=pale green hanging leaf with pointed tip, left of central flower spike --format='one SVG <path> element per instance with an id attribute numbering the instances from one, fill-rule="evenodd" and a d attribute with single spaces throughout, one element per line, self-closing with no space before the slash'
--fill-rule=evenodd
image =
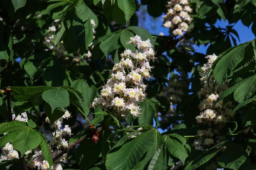
<path id="1" fill-rule="evenodd" d="M 55 108 L 66 108 L 70 104 L 67 90 L 61 87 L 44 91 L 42 98 L 49 103 L 52 108 L 52 113 Z"/>

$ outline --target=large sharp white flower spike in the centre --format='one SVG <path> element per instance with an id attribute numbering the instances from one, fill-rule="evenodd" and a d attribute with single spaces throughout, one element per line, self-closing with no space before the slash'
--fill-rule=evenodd
<path id="1" fill-rule="evenodd" d="M 99 98 L 95 98 L 92 107 L 101 106 L 105 111 L 113 109 L 113 113 L 126 116 L 140 116 L 140 106 L 137 102 L 145 98 L 146 85 L 143 79 L 152 78 L 152 66 L 149 61 L 156 59 L 150 40 L 142 41 L 136 35 L 131 37 L 128 44 L 137 47 L 136 52 L 126 49 L 122 59 L 112 69 L 111 79 L 102 87 Z"/>

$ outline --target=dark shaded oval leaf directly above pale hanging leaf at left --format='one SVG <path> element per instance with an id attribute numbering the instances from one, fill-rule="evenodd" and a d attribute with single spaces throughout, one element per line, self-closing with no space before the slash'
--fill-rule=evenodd
<path id="1" fill-rule="evenodd" d="M 47 65 L 43 76 L 47 86 L 58 87 L 64 85 L 66 79 L 66 70 L 58 59 L 54 58 Z"/>

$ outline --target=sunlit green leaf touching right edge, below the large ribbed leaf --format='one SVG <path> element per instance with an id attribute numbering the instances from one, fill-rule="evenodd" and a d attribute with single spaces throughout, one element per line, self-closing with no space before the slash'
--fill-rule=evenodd
<path id="1" fill-rule="evenodd" d="M 234 99 L 241 103 L 250 98 L 256 90 L 256 75 L 247 78 L 234 92 Z"/>

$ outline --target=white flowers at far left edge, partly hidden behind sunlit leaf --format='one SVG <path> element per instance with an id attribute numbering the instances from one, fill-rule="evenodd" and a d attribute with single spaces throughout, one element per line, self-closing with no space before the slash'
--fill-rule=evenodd
<path id="1" fill-rule="evenodd" d="M 15 121 L 21 121 L 21 122 L 27 122 L 28 121 L 28 116 L 26 112 L 21 113 L 21 116 L 15 116 L 15 114 L 12 114 L 12 120 Z M 4 133 L 6 135 L 7 133 Z M 11 142 L 11 141 L 10 141 Z M 14 150 L 12 147 L 12 144 L 8 142 L 4 147 L 2 147 L 2 150 L 5 151 L 7 154 L 6 155 L 1 155 L 0 156 L 0 162 L 2 161 L 7 161 L 7 160 L 13 160 L 13 159 L 19 159 L 19 154 L 17 150 Z M 26 152 L 28 154 L 30 151 Z"/>

